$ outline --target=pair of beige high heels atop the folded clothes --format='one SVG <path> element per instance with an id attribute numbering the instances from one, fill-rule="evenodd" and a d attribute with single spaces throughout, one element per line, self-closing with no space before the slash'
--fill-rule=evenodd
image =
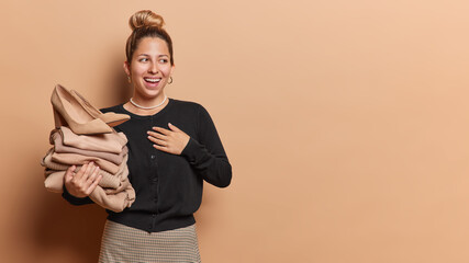
<path id="1" fill-rule="evenodd" d="M 75 134 L 109 134 L 114 127 L 129 121 L 126 114 L 102 113 L 77 91 L 68 91 L 56 84 L 51 96 L 55 127 L 68 126 Z"/>

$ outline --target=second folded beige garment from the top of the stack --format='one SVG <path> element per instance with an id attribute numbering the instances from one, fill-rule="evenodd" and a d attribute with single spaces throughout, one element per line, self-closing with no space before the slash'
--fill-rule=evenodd
<path id="1" fill-rule="evenodd" d="M 121 164 L 122 160 L 124 159 L 124 155 L 129 152 L 129 149 L 126 146 L 122 148 L 121 153 L 112 153 L 112 152 L 105 152 L 105 151 L 92 151 L 92 150 L 83 150 L 75 147 L 69 147 L 64 145 L 62 133 L 59 133 L 58 129 L 53 129 L 51 132 L 49 137 L 51 144 L 54 145 L 54 151 L 57 153 L 78 153 L 81 156 L 89 156 L 89 157 L 97 157 L 101 158 L 103 160 L 110 161 L 116 165 Z"/>

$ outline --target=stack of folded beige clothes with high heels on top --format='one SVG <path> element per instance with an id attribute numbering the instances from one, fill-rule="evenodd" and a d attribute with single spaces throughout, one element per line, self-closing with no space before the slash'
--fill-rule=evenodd
<path id="1" fill-rule="evenodd" d="M 130 118 L 125 114 L 101 113 L 76 91 L 57 84 L 52 95 L 56 128 L 51 132 L 51 148 L 42 159 L 45 187 L 62 193 L 70 165 L 78 172 L 93 161 L 102 175 L 89 197 L 98 205 L 122 211 L 135 201 L 127 175 L 127 138 L 112 127 Z"/>

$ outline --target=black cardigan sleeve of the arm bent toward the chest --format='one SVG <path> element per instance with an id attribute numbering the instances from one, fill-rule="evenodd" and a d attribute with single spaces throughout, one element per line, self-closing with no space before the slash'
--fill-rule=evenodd
<path id="1" fill-rule="evenodd" d="M 209 112 L 199 105 L 197 136 L 190 137 L 181 156 L 186 157 L 197 173 L 208 183 L 226 187 L 232 180 L 232 165 Z"/>

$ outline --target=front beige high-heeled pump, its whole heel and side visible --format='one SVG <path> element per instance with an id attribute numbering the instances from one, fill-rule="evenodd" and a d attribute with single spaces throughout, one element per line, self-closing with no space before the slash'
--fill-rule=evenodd
<path id="1" fill-rule="evenodd" d="M 108 134 L 113 129 L 102 119 L 91 116 L 63 85 L 57 84 L 51 96 L 55 127 L 68 126 L 75 134 Z"/>

